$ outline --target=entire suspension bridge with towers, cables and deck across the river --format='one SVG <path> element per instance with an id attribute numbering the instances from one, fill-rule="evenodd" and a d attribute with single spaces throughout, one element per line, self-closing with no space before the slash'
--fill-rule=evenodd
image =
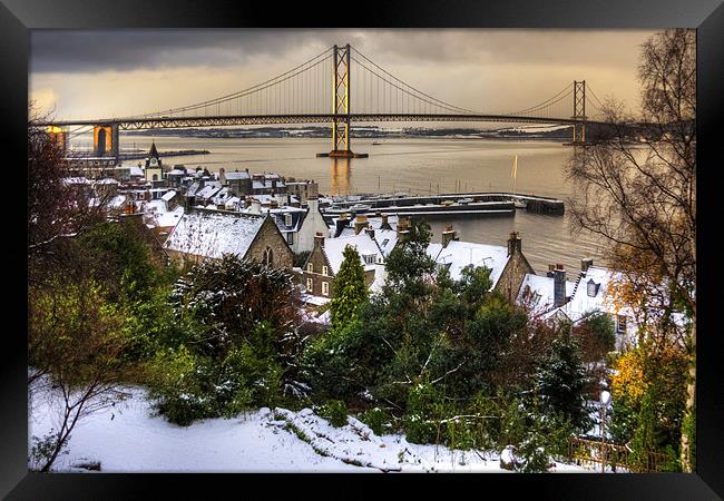
<path id="1" fill-rule="evenodd" d="M 601 108 L 585 80 L 568 84 L 555 96 L 524 109 L 458 107 L 402 81 L 348 43 L 333 46 L 264 82 L 215 99 L 130 117 L 40 125 L 65 130 L 69 137 L 92 130 L 95 155 L 117 156 L 119 130 L 331 124 L 332 149 L 320 156 L 352 158 L 366 156 L 352 150 L 354 122 L 561 124 L 571 126 L 571 144 L 578 145 L 586 141 L 587 125 L 604 124 Z"/>

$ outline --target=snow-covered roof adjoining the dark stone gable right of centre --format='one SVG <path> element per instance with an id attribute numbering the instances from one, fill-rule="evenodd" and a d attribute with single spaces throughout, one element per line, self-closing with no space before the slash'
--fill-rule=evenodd
<path id="1" fill-rule="evenodd" d="M 439 265 L 447 266 L 450 277 L 456 281 L 462 277 L 462 268 L 466 266 L 487 266 L 491 269 L 490 279 L 495 287 L 508 264 L 508 248 L 499 245 L 452 240 L 440 250 L 436 261 Z"/>

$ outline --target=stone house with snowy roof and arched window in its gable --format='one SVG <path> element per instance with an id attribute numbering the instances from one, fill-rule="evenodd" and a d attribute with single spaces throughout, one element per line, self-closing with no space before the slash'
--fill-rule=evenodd
<path id="1" fill-rule="evenodd" d="M 164 244 L 177 263 L 234 254 L 272 267 L 291 268 L 294 254 L 268 215 L 196 209 L 184 214 Z"/>

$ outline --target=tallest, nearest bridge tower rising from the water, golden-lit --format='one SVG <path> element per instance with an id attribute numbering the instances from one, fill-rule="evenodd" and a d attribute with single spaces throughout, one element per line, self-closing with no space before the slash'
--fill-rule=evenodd
<path id="1" fill-rule="evenodd" d="M 334 46 L 332 66 L 332 151 L 317 157 L 359 158 L 368 154 L 352 153 L 350 138 L 350 60 L 351 48 Z"/>

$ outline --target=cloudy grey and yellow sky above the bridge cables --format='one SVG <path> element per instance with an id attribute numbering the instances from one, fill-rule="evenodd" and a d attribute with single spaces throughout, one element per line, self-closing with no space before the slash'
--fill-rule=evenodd
<path id="1" fill-rule="evenodd" d="M 251 87 L 351 43 L 439 99 L 522 109 L 585 79 L 638 104 L 634 30 L 108 30 L 31 32 L 30 99 L 56 119 L 137 115 Z"/>

